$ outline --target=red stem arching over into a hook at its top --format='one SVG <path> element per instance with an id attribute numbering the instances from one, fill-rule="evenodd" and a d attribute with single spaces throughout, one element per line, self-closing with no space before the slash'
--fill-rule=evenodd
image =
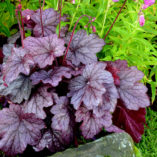
<path id="1" fill-rule="evenodd" d="M 70 41 L 69 41 L 68 46 L 67 46 L 67 49 L 66 49 L 66 51 L 65 51 L 65 55 L 64 55 L 62 64 L 65 63 L 66 56 L 67 56 L 67 54 L 68 54 L 68 50 L 69 50 L 69 47 L 70 47 L 70 44 L 71 44 L 71 42 L 72 42 L 72 38 L 73 38 L 73 35 L 74 35 L 74 32 L 75 32 L 75 28 L 76 28 L 77 24 L 79 23 L 79 21 L 80 21 L 83 17 L 88 17 L 89 21 L 91 22 L 91 17 L 88 16 L 88 15 L 82 15 L 82 16 L 80 16 L 79 19 L 76 21 L 76 23 L 75 23 L 75 25 L 74 25 L 74 28 L 73 28 L 73 31 L 72 31 L 72 34 L 71 34 L 71 37 L 70 37 Z"/>

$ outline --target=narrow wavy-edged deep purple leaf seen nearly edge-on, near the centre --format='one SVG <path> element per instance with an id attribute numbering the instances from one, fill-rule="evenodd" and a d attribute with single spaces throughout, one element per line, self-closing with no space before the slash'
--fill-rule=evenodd
<path id="1" fill-rule="evenodd" d="M 55 67 L 54 69 L 47 71 L 40 70 L 31 75 L 31 80 L 34 85 L 42 81 L 44 84 L 51 84 L 53 87 L 58 86 L 62 78 L 71 78 L 70 69 L 67 67 Z"/>

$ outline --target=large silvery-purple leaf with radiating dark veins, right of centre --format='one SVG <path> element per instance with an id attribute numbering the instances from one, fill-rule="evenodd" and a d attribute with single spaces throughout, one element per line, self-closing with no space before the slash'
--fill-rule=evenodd
<path id="1" fill-rule="evenodd" d="M 68 96 L 72 96 L 71 104 L 78 109 L 83 102 L 88 109 L 102 103 L 102 95 L 106 92 L 104 83 L 113 83 L 111 73 L 104 70 L 106 64 L 93 63 L 85 66 L 82 76 L 71 80 Z"/>

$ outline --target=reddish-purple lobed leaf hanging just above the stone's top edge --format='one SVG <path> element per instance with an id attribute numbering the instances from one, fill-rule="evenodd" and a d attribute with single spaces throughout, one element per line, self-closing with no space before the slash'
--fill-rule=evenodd
<path id="1" fill-rule="evenodd" d="M 82 122 L 80 129 L 86 139 L 93 138 L 102 128 L 108 128 L 112 124 L 112 116 L 109 112 L 104 112 L 100 117 L 97 117 L 92 111 L 85 107 L 80 107 L 76 113 L 76 122 Z"/>

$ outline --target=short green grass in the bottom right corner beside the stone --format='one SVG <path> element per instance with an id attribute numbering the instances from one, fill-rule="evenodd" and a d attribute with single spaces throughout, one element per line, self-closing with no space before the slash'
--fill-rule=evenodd
<path id="1" fill-rule="evenodd" d="M 136 146 L 141 150 L 143 157 L 157 156 L 157 113 L 150 108 L 147 110 L 145 133 L 142 141 Z"/>

